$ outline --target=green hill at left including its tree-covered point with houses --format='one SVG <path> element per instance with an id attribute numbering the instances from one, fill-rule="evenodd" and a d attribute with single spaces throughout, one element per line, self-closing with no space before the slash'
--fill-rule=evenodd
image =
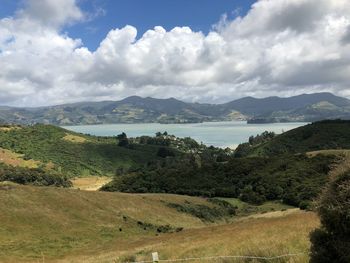
<path id="1" fill-rule="evenodd" d="M 66 177 L 113 176 L 168 156 L 182 158 L 196 151 L 210 156 L 230 154 L 167 133 L 137 138 L 127 138 L 126 134 L 97 137 L 52 125 L 0 126 L 0 163 L 32 174 L 46 171 Z"/>

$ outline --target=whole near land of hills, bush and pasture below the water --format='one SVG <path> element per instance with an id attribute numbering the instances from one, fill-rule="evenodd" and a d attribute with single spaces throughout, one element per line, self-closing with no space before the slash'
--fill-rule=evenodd
<path id="1" fill-rule="evenodd" d="M 232 151 L 167 132 L 3 126 L 0 261 L 125 263 L 157 251 L 308 262 L 315 200 L 350 167 L 349 130 L 349 121 L 314 122 Z"/>

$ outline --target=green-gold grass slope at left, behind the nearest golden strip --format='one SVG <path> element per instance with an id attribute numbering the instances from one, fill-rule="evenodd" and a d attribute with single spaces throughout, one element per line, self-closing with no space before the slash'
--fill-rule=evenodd
<path id="1" fill-rule="evenodd" d="M 41 254 L 53 259 L 96 252 L 112 241 L 125 248 L 142 237 L 155 236 L 157 227 L 167 224 L 174 228 L 204 226 L 199 218 L 167 206 L 185 200 L 212 206 L 205 199 L 187 196 L 2 184 L 0 262 L 38 259 Z"/>

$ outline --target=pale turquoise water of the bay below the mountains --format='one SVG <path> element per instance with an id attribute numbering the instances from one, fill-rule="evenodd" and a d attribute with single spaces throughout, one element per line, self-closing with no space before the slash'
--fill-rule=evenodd
<path id="1" fill-rule="evenodd" d="M 141 135 L 153 136 L 156 132 L 167 131 L 178 137 L 192 137 L 198 142 L 217 147 L 236 147 L 246 142 L 251 135 L 257 135 L 264 131 L 282 133 L 306 123 L 270 123 L 270 124 L 247 124 L 243 121 L 232 122 L 205 122 L 191 124 L 101 124 L 65 126 L 64 128 L 75 132 L 98 135 L 114 136 L 125 132 L 128 137 Z"/>

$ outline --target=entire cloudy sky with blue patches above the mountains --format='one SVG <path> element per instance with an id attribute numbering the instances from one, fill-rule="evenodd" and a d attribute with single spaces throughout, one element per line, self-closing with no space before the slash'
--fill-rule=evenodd
<path id="1" fill-rule="evenodd" d="M 350 98 L 348 0 L 0 0 L 0 105 Z"/>

